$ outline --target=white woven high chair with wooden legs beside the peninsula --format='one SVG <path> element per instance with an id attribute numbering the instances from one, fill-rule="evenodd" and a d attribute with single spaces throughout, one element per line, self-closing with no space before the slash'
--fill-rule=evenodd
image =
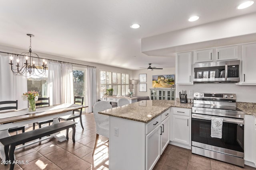
<path id="1" fill-rule="evenodd" d="M 95 149 L 97 147 L 99 135 L 109 138 L 109 116 L 98 113 L 99 111 L 103 111 L 106 109 L 112 109 L 111 104 L 106 101 L 96 102 L 92 109 L 96 122 L 96 141 L 94 144 L 92 155 L 94 155 Z"/>

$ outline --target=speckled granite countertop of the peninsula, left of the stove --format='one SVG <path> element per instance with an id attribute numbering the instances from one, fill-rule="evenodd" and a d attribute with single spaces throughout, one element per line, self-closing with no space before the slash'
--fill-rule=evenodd
<path id="1" fill-rule="evenodd" d="M 142 100 L 129 105 L 115 107 L 99 113 L 147 123 L 170 107 L 191 108 L 192 104 L 176 104 L 172 100 Z"/>

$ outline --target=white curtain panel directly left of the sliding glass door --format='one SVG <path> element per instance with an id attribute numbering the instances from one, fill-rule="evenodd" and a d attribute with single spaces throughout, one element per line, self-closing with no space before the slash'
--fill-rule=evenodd
<path id="1" fill-rule="evenodd" d="M 74 103 L 72 64 L 61 64 L 62 103 Z"/>

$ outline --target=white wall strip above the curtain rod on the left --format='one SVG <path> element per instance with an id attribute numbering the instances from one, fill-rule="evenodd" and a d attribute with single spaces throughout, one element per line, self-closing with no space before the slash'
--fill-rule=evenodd
<path id="1" fill-rule="evenodd" d="M 24 51 L 28 51 L 28 49 L 18 49 L 18 48 L 14 48 L 14 47 L 8 47 L 8 46 L 0 45 L 0 51 L 20 54 Z M 49 55 L 49 54 L 46 54 L 46 53 L 40 53 L 40 52 L 36 52 L 36 51 L 33 51 L 33 52 L 37 53 L 39 55 L 39 57 L 45 58 L 45 59 L 52 59 L 52 60 L 70 62 L 70 63 L 84 64 L 84 65 L 88 65 L 88 66 L 95 66 L 96 67 L 96 86 L 97 86 L 97 96 L 96 96 L 96 98 L 97 99 L 100 99 L 100 95 L 99 95 L 99 93 L 100 93 L 99 92 L 100 70 L 126 73 L 126 74 L 130 74 L 130 76 L 132 76 L 132 70 L 128 70 L 128 69 L 124 69 L 124 68 L 107 66 L 107 65 L 103 65 L 103 64 L 97 64 L 97 63 L 90 63 L 90 62 L 86 62 L 86 61 L 80 61 L 80 60 L 72 59 L 72 57 L 66 58 L 66 57 L 61 57 L 61 56 L 56 56 L 56 55 Z M 7 56 L 7 54 L 4 54 L 4 53 L 0 53 L 0 55 Z M 86 58 L 89 58 L 89 57 L 91 57 L 91 56 L 85 56 L 84 60 L 86 60 Z M 6 63 L 6 64 L 8 64 L 8 63 Z M 85 67 L 85 66 L 76 65 L 76 64 L 73 64 L 73 66 Z"/>

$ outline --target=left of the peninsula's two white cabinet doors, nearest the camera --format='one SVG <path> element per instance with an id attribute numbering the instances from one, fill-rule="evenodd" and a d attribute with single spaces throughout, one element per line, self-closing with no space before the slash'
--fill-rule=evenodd
<path id="1" fill-rule="evenodd" d="M 159 127 L 160 122 L 158 122 L 158 126 L 154 130 L 146 135 L 146 170 L 152 170 L 161 156 Z"/>

